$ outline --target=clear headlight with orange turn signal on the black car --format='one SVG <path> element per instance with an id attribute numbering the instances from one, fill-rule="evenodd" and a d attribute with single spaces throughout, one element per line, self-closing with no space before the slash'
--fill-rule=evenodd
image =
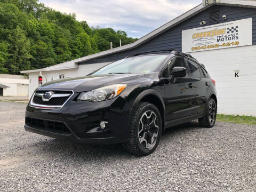
<path id="1" fill-rule="evenodd" d="M 117 95 L 119 95 L 125 89 L 126 86 L 127 86 L 126 84 L 115 84 L 115 85 L 101 87 L 93 91 L 83 92 L 79 94 L 77 100 L 98 102 L 98 101 L 104 101 L 107 99 L 113 99 Z"/>

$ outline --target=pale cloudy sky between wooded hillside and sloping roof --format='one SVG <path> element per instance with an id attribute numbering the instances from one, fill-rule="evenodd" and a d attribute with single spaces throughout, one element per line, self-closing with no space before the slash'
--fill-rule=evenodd
<path id="1" fill-rule="evenodd" d="M 75 13 L 90 27 L 124 30 L 140 38 L 192 9 L 202 0 L 39 0 L 62 13 Z"/>

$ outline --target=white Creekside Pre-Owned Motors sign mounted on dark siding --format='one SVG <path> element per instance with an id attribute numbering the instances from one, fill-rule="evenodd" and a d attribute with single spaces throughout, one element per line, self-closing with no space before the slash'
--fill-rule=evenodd
<path id="1" fill-rule="evenodd" d="M 252 18 L 182 30 L 182 52 L 252 45 Z"/>

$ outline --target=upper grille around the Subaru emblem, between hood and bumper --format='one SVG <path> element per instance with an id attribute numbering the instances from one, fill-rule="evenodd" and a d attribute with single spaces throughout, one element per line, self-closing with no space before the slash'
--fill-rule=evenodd
<path id="1" fill-rule="evenodd" d="M 66 97 L 52 97 L 49 101 L 43 101 L 42 95 L 45 92 L 48 92 L 49 90 L 37 90 L 34 98 L 33 98 L 33 103 L 38 104 L 38 105 L 45 105 L 45 106 L 62 106 L 70 97 L 71 94 L 73 94 L 72 91 L 69 90 L 54 90 L 54 94 L 70 94 Z M 51 90 L 50 90 L 51 91 Z M 41 96 L 38 96 L 37 94 L 41 94 Z"/>

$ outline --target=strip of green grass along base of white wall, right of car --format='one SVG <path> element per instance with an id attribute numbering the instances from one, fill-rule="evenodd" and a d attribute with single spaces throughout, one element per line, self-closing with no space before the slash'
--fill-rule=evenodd
<path id="1" fill-rule="evenodd" d="M 229 123 L 240 123 L 240 124 L 249 124 L 256 125 L 256 117 L 253 116 L 240 116 L 240 115 L 217 115 L 217 121 L 220 122 L 229 122 Z"/>

